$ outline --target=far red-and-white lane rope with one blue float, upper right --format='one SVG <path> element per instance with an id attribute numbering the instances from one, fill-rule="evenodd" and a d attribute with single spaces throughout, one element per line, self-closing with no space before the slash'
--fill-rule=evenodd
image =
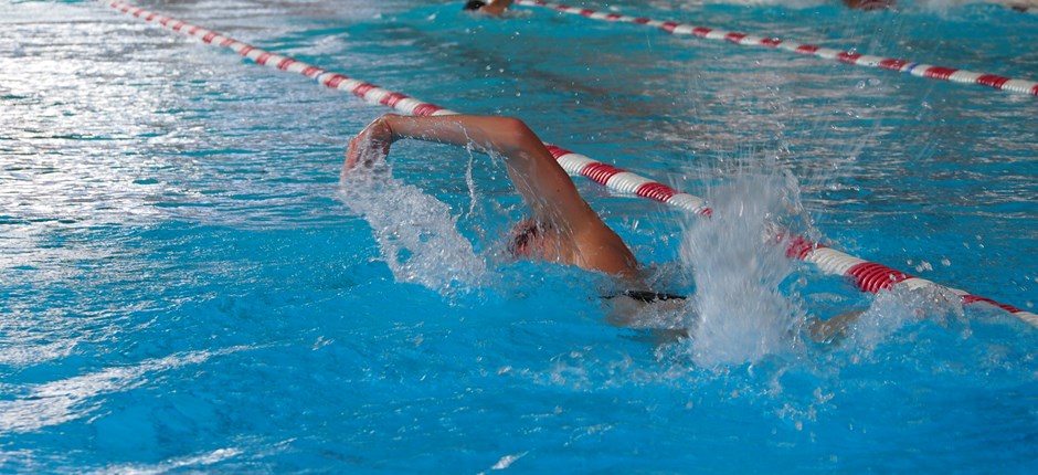
<path id="1" fill-rule="evenodd" d="M 812 44 L 780 40 L 774 36 L 765 38 L 734 31 L 724 31 L 709 27 L 697 27 L 687 23 L 678 23 L 674 21 L 652 20 L 644 17 L 629 17 L 619 13 L 605 13 L 580 7 L 550 3 L 542 0 L 516 0 L 515 3 L 523 7 L 548 8 L 563 13 L 579 14 L 581 17 L 586 17 L 593 20 L 644 24 L 646 27 L 658 28 L 671 34 L 689 34 L 698 38 L 705 38 L 707 40 L 728 41 L 730 43 L 741 44 L 744 46 L 764 46 L 786 50 L 797 54 L 814 55 L 826 60 L 836 60 L 846 64 L 880 67 L 883 70 L 911 74 L 913 76 L 951 81 L 954 83 L 979 84 L 983 86 L 994 87 L 996 89 L 1038 96 L 1038 82 L 1029 80 L 1014 80 L 1010 77 L 999 76 L 997 74 L 976 73 L 973 71 L 934 66 L 931 64 L 898 60 L 894 57 L 880 57 L 873 56 L 871 54 L 839 51 L 832 48 L 822 48 Z"/>

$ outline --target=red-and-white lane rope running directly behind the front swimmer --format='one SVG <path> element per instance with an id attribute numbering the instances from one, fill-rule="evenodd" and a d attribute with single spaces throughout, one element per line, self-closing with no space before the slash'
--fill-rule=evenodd
<path id="1" fill-rule="evenodd" d="M 105 1 L 105 0 L 102 0 Z M 296 61 L 289 56 L 274 54 L 261 50 L 251 44 L 237 41 L 225 34 L 206 30 L 201 27 L 178 20 L 172 17 L 155 13 L 139 7 L 134 7 L 119 0 L 108 2 L 108 6 L 123 13 L 136 17 L 149 23 L 158 24 L 168 30 L 194 36 L 202 40 L 203 43 L 222 46 L 234 51 L 237 54 L 251 60 L 256 64 L 279 71 L 287 71 L 301 74 L 316 81 L 326 87 L 349 92 L 368 103 L 379 104 L 394 108 L 405 114 L 419 116 L 436 116 L 457 114 L 454 110 L 425 103 L 401 93 L 388 91 L 370 83 L 350 78 L 345 74 L 333 73 L 318 66 Z M 633 193 L 661 203 L 667 203 L 676 208 L 690 211 L 695 214 L 709 218 L 712 210 L 705 205 L 702 198 L 684 193 L 636 173 L 625 171 L 612 165 L 591 159 L 580 154 L 544 144 L 563 169 L 570 175 L 580 175 L 605 187 L 624 192 Z M 778 240 L 782 241 L 781 239 Z M 815 264 L 823 273 L 848 277 L 860 291 L 877 293 L 881 289 L 890 289 L 894 285 L 908 285 L 911 288 L 934 286 L 955 293 L 962 297 L 962 304 L 967 305 L 974 302 L 985 302 L 996 307 L 1003 308 L 1020 319 L 1038 327 L 1038 315 L 1024 312 L 1019 308 L 999 304 L 995 300 L 984 297 L 970 295 L 964 291 L 958 291 L 933 283 L 919 277 L 909 276 L 891 267 L 881 264 L 871 263 L 859 257 L 846 254 L 807 240 L 799 235 L 786 238 L 786 255 L 791 258 L 801 260 Z"/>

